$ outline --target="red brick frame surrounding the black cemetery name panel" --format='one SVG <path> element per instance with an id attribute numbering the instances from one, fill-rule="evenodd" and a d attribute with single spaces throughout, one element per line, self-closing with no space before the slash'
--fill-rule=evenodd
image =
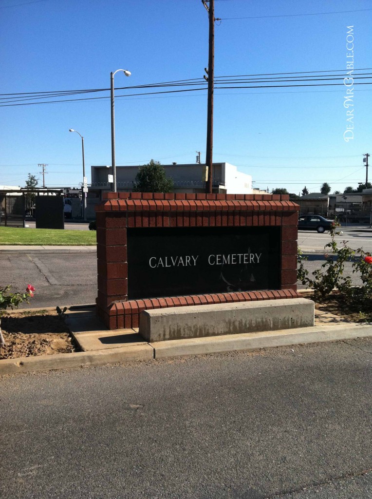
<path id="1" fill-rule="evenodd" d="M 96 206 L 98 316 L 109 329 L 138 327 L 145 309 L 297 297 L 298 209 L 284 194 L 104 193 Z M 282 228 L 280 289 L 128 301 L 127 227 L 250 226 Z"/>

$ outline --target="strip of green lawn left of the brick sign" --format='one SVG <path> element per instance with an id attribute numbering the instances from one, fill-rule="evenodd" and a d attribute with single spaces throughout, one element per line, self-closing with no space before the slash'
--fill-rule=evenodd
<path id="1" fill-rule="evenodd" d="M 0 245 L 93 246 L 96 231 L 0 227 Z"/>

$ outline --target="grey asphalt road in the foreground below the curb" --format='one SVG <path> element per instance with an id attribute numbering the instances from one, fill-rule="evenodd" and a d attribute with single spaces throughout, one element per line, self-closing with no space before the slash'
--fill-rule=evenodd
<path id="1" fill-rule="evenodd" d="M 0 378 L 2 499 L 371 499 L 372 338 Z"/>

